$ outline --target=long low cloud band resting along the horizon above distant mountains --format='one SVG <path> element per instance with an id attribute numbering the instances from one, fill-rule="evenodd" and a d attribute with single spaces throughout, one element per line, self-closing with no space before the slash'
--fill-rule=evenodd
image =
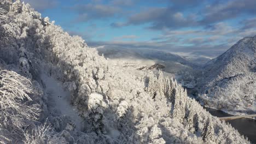
<path id="1" fill-rule="evenodd" d="M 90 47 L 118 48 L 118 49 L 152 49 L 166 52 L 187 53 L 188 56 L 205 56 L 214 58 L 228 50 L 231 45 L 200 45 L 179 46 L 152 41 L 88 41 Z"/>

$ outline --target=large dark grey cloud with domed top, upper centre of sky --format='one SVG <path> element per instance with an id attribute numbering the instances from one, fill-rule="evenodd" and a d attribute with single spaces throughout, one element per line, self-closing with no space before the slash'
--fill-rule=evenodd
<path id="1" fill-rule="evenodd" d="M 182 28 L 196 26 L 196 16 L 190 14 L 184 16 L 181 12 L 173 11 L 171 8 L 149 8 L 141 13 L 132 15 L 126 23 L 112 23 L 113 27 L 141 25 L 152 23 L 150 29 Z"/>

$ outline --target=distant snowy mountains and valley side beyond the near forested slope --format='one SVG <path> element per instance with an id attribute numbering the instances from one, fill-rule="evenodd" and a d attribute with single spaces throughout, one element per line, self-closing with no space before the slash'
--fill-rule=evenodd
<path id="1" fill-rule="evenodd" d="M 194 91 L 193 97 L 201 105 L 232 115 L 256 111 L 256 36 L 241 39 L 228 51 L 202 65 L 156 50 L 104 47 L 97 50 L 123 67 L 143 69 L 163 65 L 164 75 L 175 77 L 183 87 Z"/>

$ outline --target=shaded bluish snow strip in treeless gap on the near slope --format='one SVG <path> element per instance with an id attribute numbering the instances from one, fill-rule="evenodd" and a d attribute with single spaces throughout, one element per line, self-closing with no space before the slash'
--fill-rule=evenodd
<path id="1" fill-rule="evenodd" d="M 62 84 L 55 80 L 53 77 L 43 73 L 41 79 L 45 84 L 45 91 L 50 93 L 50 111 L 60 111 L 59 115 L 69 116 L 75 123 L 75 129 L 78 131 L 83 130 L 83 118 L 79 116 L 79 112 L 75 106 L 71 105 L 70 93 L 66 91 Z"/>

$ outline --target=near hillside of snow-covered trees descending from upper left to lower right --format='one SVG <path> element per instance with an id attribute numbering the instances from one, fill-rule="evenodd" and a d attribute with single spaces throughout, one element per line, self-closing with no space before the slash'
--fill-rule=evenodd
<path id="1" fill-rule="evenodd" d="M 0 143 L 250 143 L 162 71 L 109 62 L 0 1 Z"/>

